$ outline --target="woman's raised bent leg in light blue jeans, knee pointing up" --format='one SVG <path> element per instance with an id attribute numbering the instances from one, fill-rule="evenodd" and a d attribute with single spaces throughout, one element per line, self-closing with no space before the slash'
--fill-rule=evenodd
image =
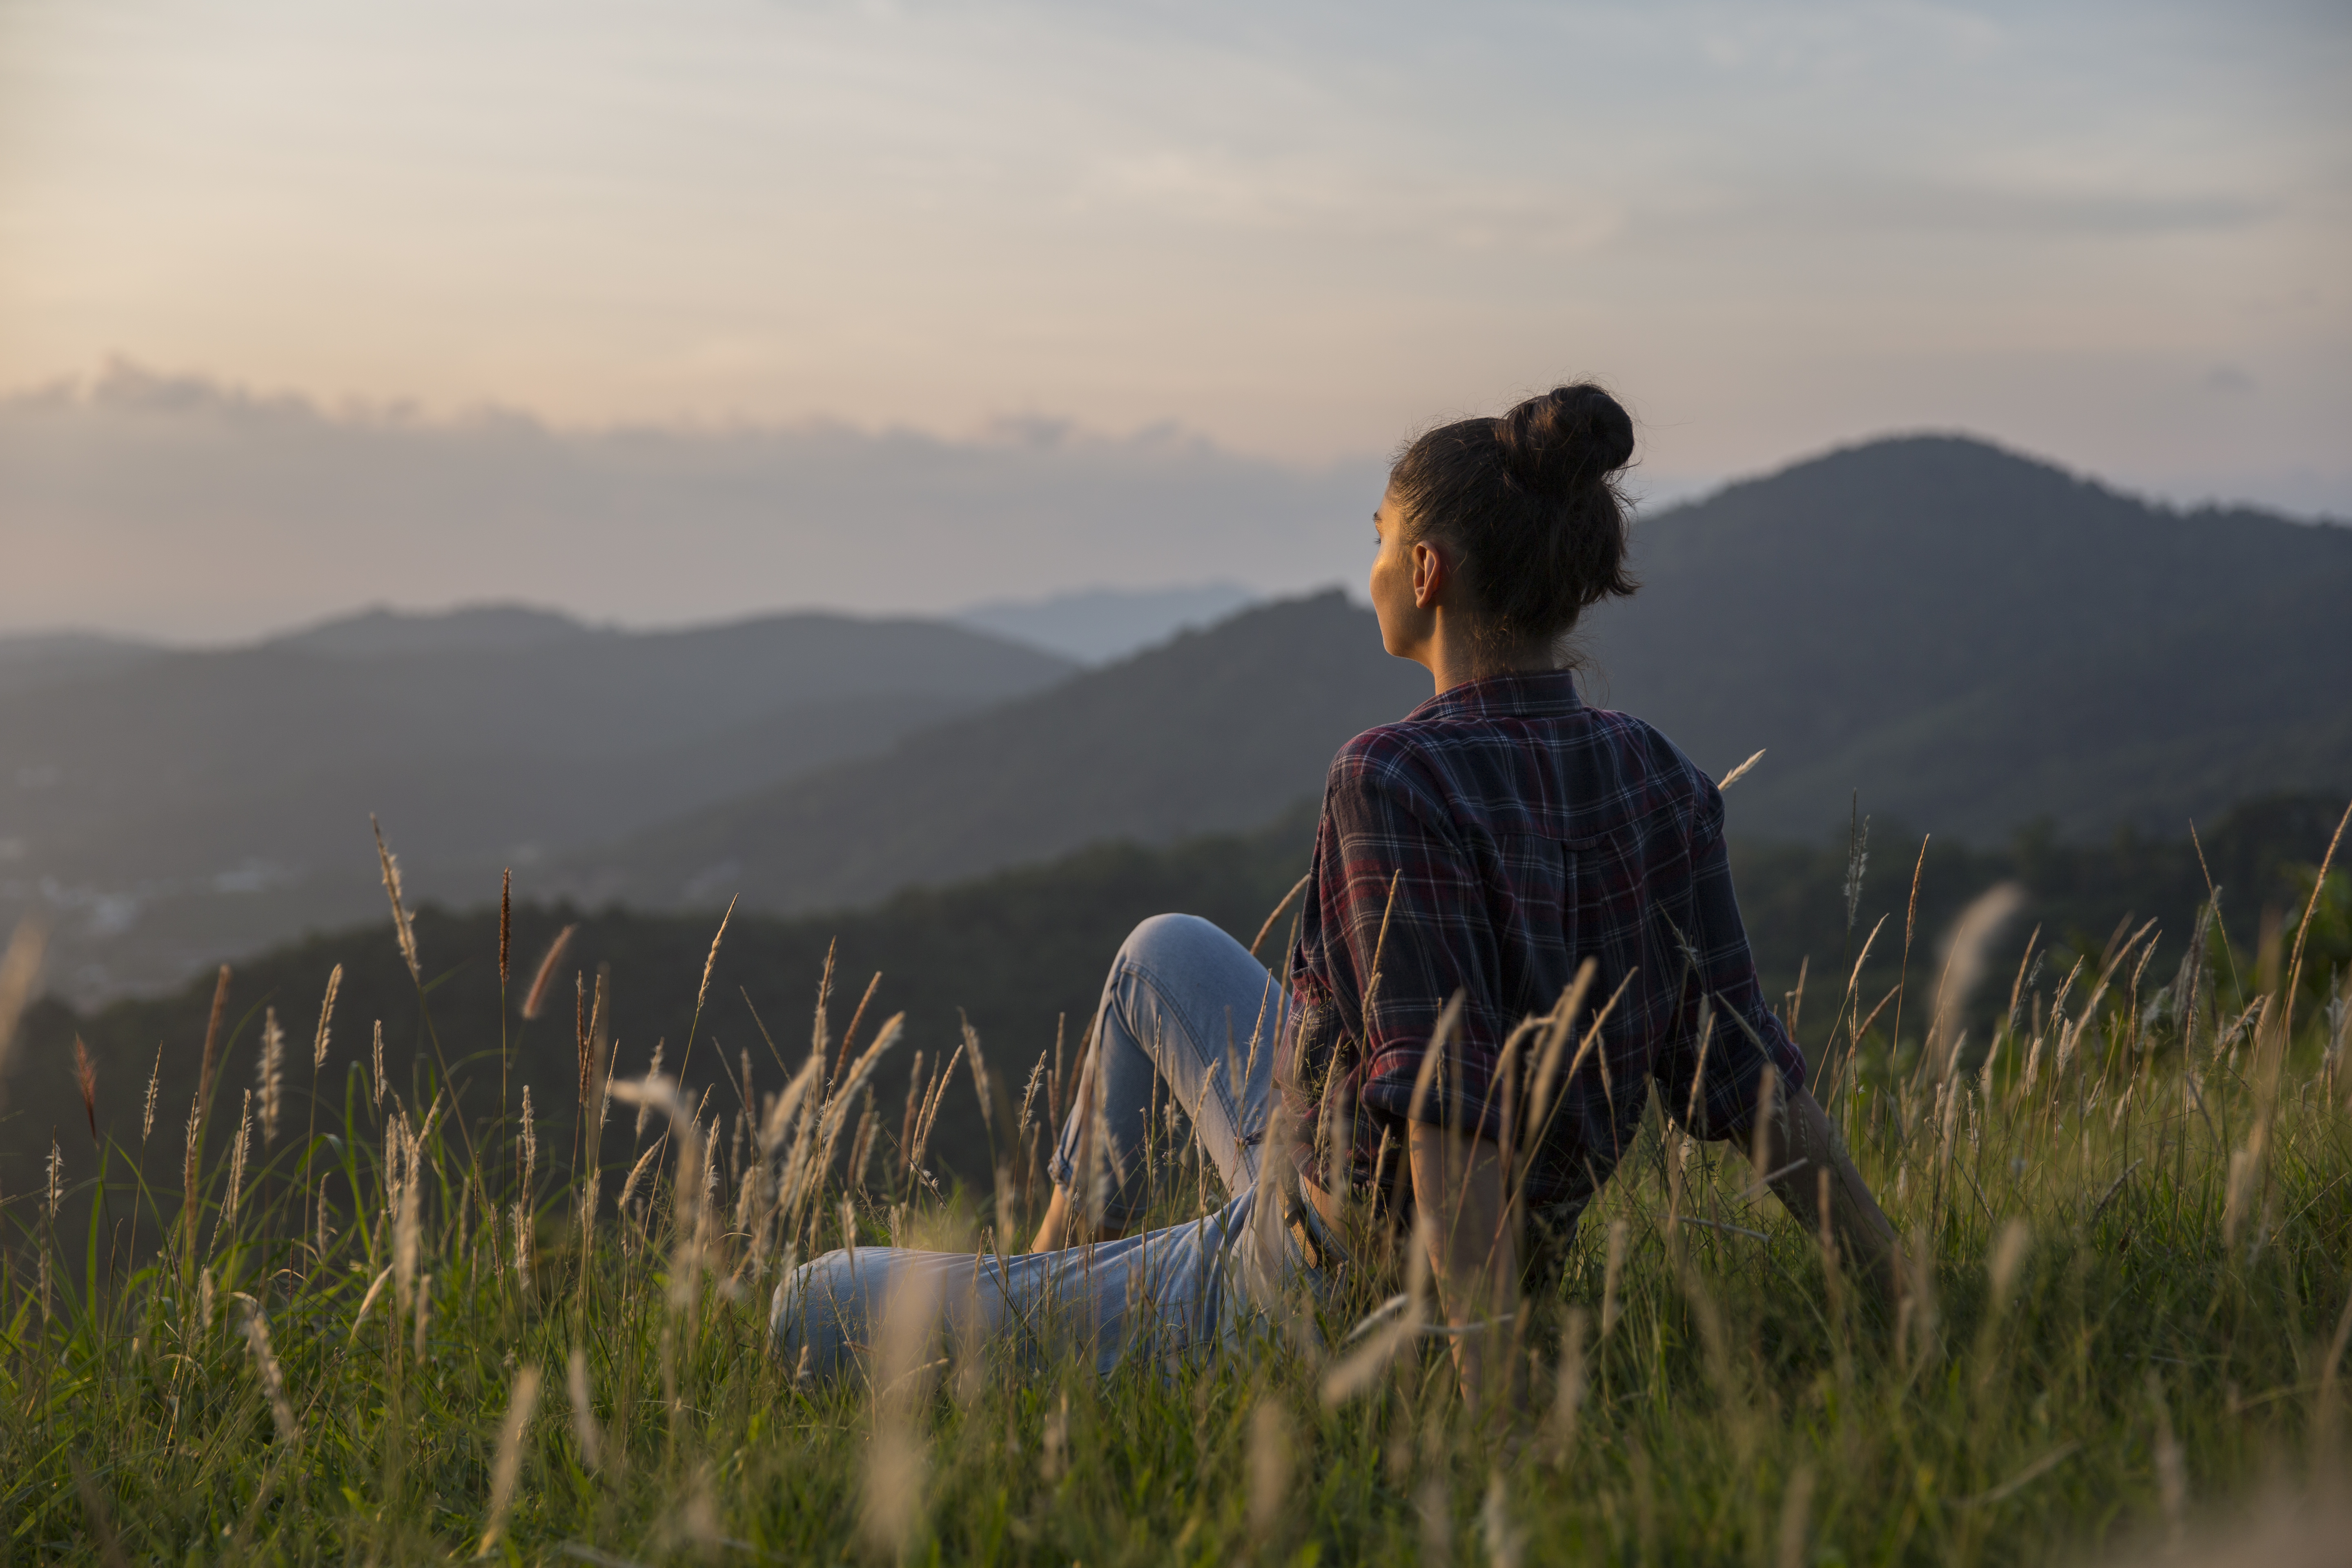
<path id="1" fill-rule="evenodd" d="M 1282 1006 L 1265 966 L 1209 922 L 1155 914 L 1136 926 L 1103 980 L 1087 1093 L 1054 1145 L 1054 1185 L 1080 1197 L 1089 1220 L 1131 1227 L 1150 1199 L 1143 1161 L 1167 1084 L 1225 1190 L 1249 1190 Z"/>

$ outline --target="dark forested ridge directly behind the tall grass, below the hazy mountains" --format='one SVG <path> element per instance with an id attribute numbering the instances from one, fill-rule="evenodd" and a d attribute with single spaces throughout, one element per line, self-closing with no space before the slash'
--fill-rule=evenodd
<path id="1" fill-rule="evenodd" d="M 1738 785 L 1745 788 L 1745 785 Z M 2249 802 L 2201 827 L 2204 853 L 2187 835 L 2138 837 L 2119 832 L 2103 842 L 2074 842 L 2046 825 L 2020 832 L 2002 849 L 1969 849 L 1922 842 L 1905 827 L 1877 823 L 1867 839 L 1867 867 L 1856 929 L 1846 931 L 1846 844 L 1733 844 L 1733 877 L 1750 940 L 1776 1004 L 1797 987 L 1809 966 L 1799 1037 L 1818 1056 L 1837 1011 L 1844 964 L 1860 950 L 1872 924 L 1889 919 L 1889 933 L 1872 947 L 1860 976 L 1865 1001 L 1875 1001 L 1903 973 L 1903 919 L 1912 875 L 1919 877 L 1917 938 L 1910 978 L 1922 994 L 1933 990 L 1938 945 L 1959 910 L 1999 879 L 2027 886 L 2023 912 L 1994 947 L 1994 973 L 1978 997 L 1980 1009 L 1999 1006 L 2027 938 L 2039 929 L 2049 990 L 2079 954 L 2096 954 L 2117 922 L 2157 919 L 2157 971 L 2171 973 L 2206 898 L 2206 872 L 2220 884 L 2225 933 L 2234 959 L 2251 961 L 2265 926 L 2293 917 L 2307 893 L 2307 877 L 2343 813 L 2340 797 L 2274 797 Z M 720 947 L 703 1016 L 696 1063 L 687 1077 L 713 1088 L 731 1107 L 715 1067 L 724 1058 L 739 1067 L 750 1051 L 755 1086 L 781 1081 L 760 1025 L 774 1037 L 783 1063 L 807 1053 L 809 1016 L 826 950 L 837 952 L 837 999 L 833 1030 L 849 1023 L 868 978 L 880 971 L 875 1011 L 906 1011 L 908 1039 L 880 1074 L 884 1126 L 896 1128 L 901 1093 L 913 1053 L 934 1063 L 957 1044 L 969 1016 L 1000 1077 L 1025 1077 L 1040 1053 L 1051 1051 L 1056 1025 L 1065 1020 L 1068 1048 L 1077 1048 L 1120 938 L 1143 917 L 1188 910 L 1214 919 L 1249 943 L 1275 903 L 1305 870 L 1312 846 L 1312 804 L 1301 802 L 1275 825 L 1254 835 L 1221 835 L 1145 849 L 1096 846 L 1049 865 L 1000 872 L 960 886 L 910 891 L 880 907 L 779 919 L 736 912 Z M 2336 875 L 2338 900 L 2314 924 L 2307 952 L 2307 985 L 2326 997 L 2336 973 L 2352 966 L 2352 905 Z M 529 884 L 524 882 L 524 889 Z M 517 1016 L 532 969 L 557 929 L 579 922 L 564 952 L 555 1001 L 539 1023 Z M 574 1084 L 574 976 L 612 978 L 612 1032 L 619 1070 L 635 1074 L 652 1060 L 654 1041 L 668 1041 L 666 1067 L 680 1065 L 680 1046 L 694 1009 L 694 992 L 710 952 L 717 919 L 710 914 L 644 914 L 626 910 L 581 912 L 567 905 L 524 903 L 515 912 L 515 983 L 508 997 L 513 1032 L 510 1074 L 515 1095 L 532 1084 L 541 1107 L 560 1107 Z M 1287 922 L 1268 933 L 1261 957 L 1279 964 Z M 456 1074 L 470 1084 L 470 1105 L 496 1100 L 499 983 L 496 912 L 452 914 L 428 907 L 416 917 L 419 947 L 433 997 L 433 1018 Z M 416 992 L 393 945 L 390 922 L 310 938 L 240 964 L 230 985 L 233 1039 L 223 1070 L 228 1112 L 254 1081 L 254 1041 L 261 1009 L 275 1006 L 294 1044 L 292 1084 L 308 1093 L 306 1046 L 318 1020 L 327 973 L 346 966 L 336 1009 L 334 1056 L 327 1086 L 343 1093 L 343 1074 L 362 1065 L 374 1020 L 383 1020 L 395 1084 L 409 1095 L 414 1072 L 433 1058 L 419 1030 Z M 1922 978 L 1924 976 L 1924 978 Z M 1994 992 L 2002 992 L 1999 997 Z M 141 1001 L 75 1016 L 49 1001 L 26 1020 L 26 1039 L 5 1084 L 0 1114 L 0 1185 L 28 1190 L 35 1157 L 56 1128 L 73 1168 L 87 1168 L 87 1133 L 71 1079 L 71 1041 L 89 1041 L 99 1058 L 99 1117 L 115 1138 L 136 1145 L 139 1114 L 151 1063 L 162 1060 L 162 1124 L 155 1138 L 172 1145 L 176 1117 L 186 1114 L 195 1084 L 212 976 L 188 987 Z M 757 1018 L 755 1018 L 757 1011 Z M 1917 1032 L 1917 1018 L 1912 1034 Z M 1980 1037 L 1980 1034 L 1978 1034 Z M 985 1173 L 985 1131 L 976 1105 L 957 1088 L 941 1119 L 943 1168 Z M 553 1112 L 550 1112 L 553 1114 Z M 616 1133 L 619 1138 L 619 1133 Z M 80 1140 L 75 1145 L 75 1140 Z M 176 1147 L 176 1145 L 172 1145 Z M 614 1145 L 619 1152 L 619 1145 Z"/>

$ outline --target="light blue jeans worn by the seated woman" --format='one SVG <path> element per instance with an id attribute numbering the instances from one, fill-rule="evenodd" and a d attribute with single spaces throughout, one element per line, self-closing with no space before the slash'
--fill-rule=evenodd
<path id="1" fill-rule="evenodd" d="M 1108 1373 L 1122 1359 L 1200 1356 L 1265 1321 L 1308 1272 L 1289 1215 L 1258 1213 L 1258 1152 L 1272 1105 L 1279 985 L 1230 936 L 1190 914 L 1134 929 L 1103 983 L 1094 1056 L 1054 1147 L 1054 1182 L 1112 1227 L 1148 1201 L 1155 1107 L 1174 1095 L 1230 1201 L 1200 1220 L 1058 1253 L 833 1251 L 776 1286 L 771 1335 L 814 1375 L 849 1371 L 891 1295 L 920 1291 L 962 1342 L 1070 1349 Z M 1305 1220 L 1312 1225 L 1312 1220 Z"/>

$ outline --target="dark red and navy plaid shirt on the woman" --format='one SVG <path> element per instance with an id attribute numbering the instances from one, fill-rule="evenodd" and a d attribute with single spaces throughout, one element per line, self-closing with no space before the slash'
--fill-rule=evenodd
<path id="1" fill-rule="evenodd" d="M 1519 1051 L 1505 1091 L 1505 1041 L 1559 1006 L 1585 957 L 1599 973 L 1569 1051 L 1606 1018 L 1531 1152 L 1536 1211 L 1581 1206 L 1609 1178 L 1642 1119 L 1644 1079 L 1703 1138 L 1750 1131 L 1766 1065 L 1804 1081 L 1804 1056 L 1757 985 L 1722 795 L 1642 719 L 1588 708 L 1569 672 L 1454 686 L 1350 741 L 1324 783 L 1289 961 L 1291 1039 L 1277 1056 L 1301 1159 L 1343 1143 L 1357 1187 L 1374 1180 L 1383 1128 L 1402 1143 L 1456 992 L 1461 1025 L 1418 1117 L 1498 1138 L 1536 1067 Z M 1327 1145 L 1322 1121 L 1352 1124 L 1352 1138 L 1334 1126 Z M 1397 1166 L 1392 1152 L 1383 1185 Z"/>

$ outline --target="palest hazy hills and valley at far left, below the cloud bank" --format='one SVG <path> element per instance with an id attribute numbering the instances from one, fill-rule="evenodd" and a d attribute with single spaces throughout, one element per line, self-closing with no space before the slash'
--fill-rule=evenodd
<path id="1" fill-rule="evenodd" d="M 52 646 L 0 679 L 0 917 L 42 907 L 75 994 L 365 914 L 367 816 L 412 893 L 656 823 L 1061 679 L 934 621 L 771 616 L 630 635 L 489 607 L 369 611 L 259 646 Z M 0 670 L 7 661 L 0 658 Z"/>

